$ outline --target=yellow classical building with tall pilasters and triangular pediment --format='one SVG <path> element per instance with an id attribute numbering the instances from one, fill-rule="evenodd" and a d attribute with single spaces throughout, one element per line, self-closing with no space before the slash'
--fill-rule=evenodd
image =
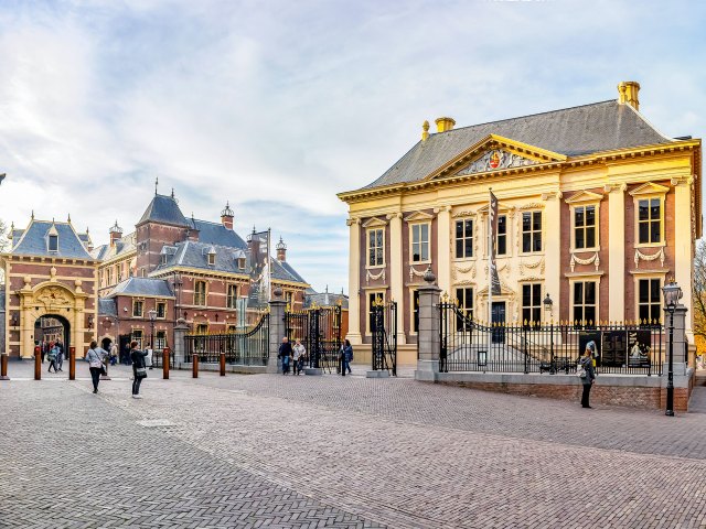
<path id="1" fill-rule="evenodd" d="M 398 303 L 398 344 L 415 344 L 428 267 L 467 313 L 491 320 L 489 190 L 500 202 L 493 321 L 661 320 L 671 278 L 691 315 L 700 140 L 662 134 L 640 114 L 639 89 L 621 83 L 613 100 L 459 129 L 439 118 L 437 133 L 425 122 L 388 171 L 339 194 L 351 342 L 371 342 L 371 305 L 383 299 Z M 415 346 L 400 350 L 413 361 Z"/>

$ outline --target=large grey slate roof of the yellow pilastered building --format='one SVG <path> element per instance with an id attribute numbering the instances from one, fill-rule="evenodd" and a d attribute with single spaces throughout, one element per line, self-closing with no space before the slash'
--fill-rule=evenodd
<path id="1" fill-rule="evenodd" d="M 363 190 L 420 181 L 489 134 L 567 156 L 673 141 L 630 105 L 612 99 L 431 134 Z"/>

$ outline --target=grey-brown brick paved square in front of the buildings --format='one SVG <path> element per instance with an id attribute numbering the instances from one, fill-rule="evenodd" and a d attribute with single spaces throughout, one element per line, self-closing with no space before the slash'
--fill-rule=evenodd
<path id="1" fill-rule="evenodd" d="M 0 526 L 706 527 L 703 413 L 157 370 L 132 400 L 122 368 L 94 396 L 10 367 Z"/>

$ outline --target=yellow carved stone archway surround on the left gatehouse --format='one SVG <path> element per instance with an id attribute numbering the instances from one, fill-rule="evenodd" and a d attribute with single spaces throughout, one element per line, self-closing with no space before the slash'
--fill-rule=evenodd
<path id="1" fill-rule="evenodd" d="M 84 310 L 88 294 L 76 280 L 75 289 L 57 281 L 44 281 L 31 287 L 31 279 L 24 278 L 24 287 L 20 294 L 20 356 L 32 358 L 34 354 L 34 322 L 42 316 L 58 315 L 68 322 L 71 345 L 76 347 L 76 355 L 83 356 L 87 346 L 85 335 Z"/>

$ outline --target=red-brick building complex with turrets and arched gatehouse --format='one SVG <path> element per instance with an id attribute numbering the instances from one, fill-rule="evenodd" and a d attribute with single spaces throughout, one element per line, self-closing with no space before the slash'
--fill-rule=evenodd
<path id="1" fill-rule="evenodd" d="M 220 223 L 186 218 L 173 193 L 154 194 L 133 233 L 124 235 L 116 222 L 110 242 L 94 248 L 71 219 L 32 216 L 25 229 L 11 231 L 11 250 L 0 256 L 7 353 L 31 357 L 44 321 L 58 321 L 64 342 L 79 354 L 92 339 L 146 346 L 152 310 L 159 348 L 172 343 L 176 320 L 197 333 L 247 326 L 259 314 L 247 301 L 258 239 L 243 239 L 233 219 L 227 205 Z M 315 292 L 287 262 L 285 242 L 272 246 L 271 285 L 282 289 L 290 309 L 301 310 Z"/>

